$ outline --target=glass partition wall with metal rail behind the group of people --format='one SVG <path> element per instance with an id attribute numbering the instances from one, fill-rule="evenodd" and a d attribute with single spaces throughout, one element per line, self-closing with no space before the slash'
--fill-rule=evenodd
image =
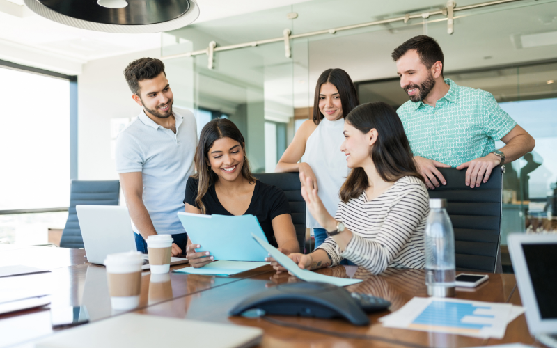
<path id="1" fill-rule="evenodd" d="M 462 0 L 469 6 L 480 0 Z M 187 26 L 164 33 L 162 56 L 255 40 L 424 14 L 409 21 L 165 59 L 175 103 L 194 110 L 201 127 L 216 117 L 233 120 L 246 138 L 253 171 L 274 171 L 297 127 L 311 116 L 317 77 L 328 68 L 346 70 L 360 102 L 400 106 L 408 100 L 396 77 L 391 52 L 421 34 L 434 37 L 445 54 L 445 77 L 491 92 L 501 107 L 536 140 L 531 153 L 508 164 L 503 189 L 503 236 L 508 232 L 554 230 L 557 182 L 557 2 L 523 0 L 455 12 L 448 35 L 444 15 L 427 17 L 445 1 L 315 0 Z M 423 18 L 427 17 L 427 18 Z M 293 19 L 291 19 L 293 18 Z M 177 86 L 178 85 L 178 86 Z M 176 93 L 179 89 L 180 93 Z M 499 144 L 499 147 L 502 144 Z"/>

